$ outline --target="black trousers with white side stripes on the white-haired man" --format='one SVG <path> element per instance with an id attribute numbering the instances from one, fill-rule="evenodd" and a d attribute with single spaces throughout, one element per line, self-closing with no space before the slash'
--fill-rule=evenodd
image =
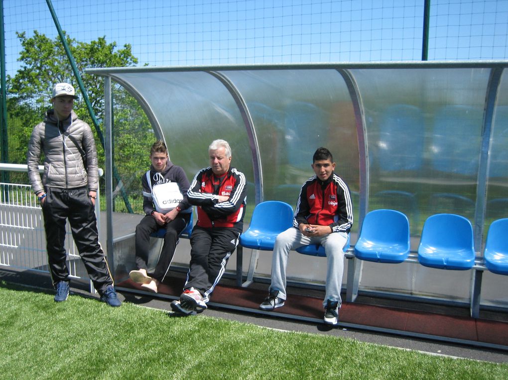
<path id="1" fill-rule="evenodd" d="M 226 270 L 228 259 L 238 245 L 240 232 L 231 228 L 195 226 L 190 235 L 190 264 L 184 289 L 200 291 L 205 302 Z"/>

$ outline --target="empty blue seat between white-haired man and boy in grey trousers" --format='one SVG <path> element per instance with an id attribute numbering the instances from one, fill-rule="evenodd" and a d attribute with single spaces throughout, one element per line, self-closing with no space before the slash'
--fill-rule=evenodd
<path id="1" fill-rule="evenodd" d="M 277 235 L 293 225 L 293 209 L 288 203 L 267 200 L 252 212 L 249 228 L 240 235 L 245 248 L 271 251 Z"/>

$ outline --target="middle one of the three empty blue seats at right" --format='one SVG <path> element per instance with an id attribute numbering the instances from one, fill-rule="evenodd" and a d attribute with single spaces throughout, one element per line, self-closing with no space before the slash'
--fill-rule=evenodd
<path id="1" fill-rule="evenodd" d="M 418 261 L 431 268 L 471 269 L 474 265 L 471 222 L 455 214 L 427 218 L 418 247 Z"/>

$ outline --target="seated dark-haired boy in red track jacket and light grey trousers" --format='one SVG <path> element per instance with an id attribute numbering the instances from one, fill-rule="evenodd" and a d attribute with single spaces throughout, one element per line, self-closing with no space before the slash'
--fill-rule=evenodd
<path id="1" fill-rule="evenodd" d="M 330 151 L 319 148 L 312 159 L 315 176 L 305 182 L 295 210 L 293 227 L 275 240 L 272 257 L 272 283 L 268 297 L 260 305 L 273 310 L 286 299 L 286 267 L 291 250 L 309 244 L 321 244 L 327 257 L 324 322 L 336 325 L 342 300 L 340 288 L 344 272 L 344 245 L 353 225 L 353 202 L 345 182 L 335 174 Z"/>

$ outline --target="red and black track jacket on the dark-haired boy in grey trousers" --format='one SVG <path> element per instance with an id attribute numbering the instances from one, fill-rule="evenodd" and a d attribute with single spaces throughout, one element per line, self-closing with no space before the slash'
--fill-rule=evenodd
<path id="1" fill-rule="evenodd" d="M 353 225 L 353 202 L 345 182 L 335 173 L 323 182 L 313 176 L 300 190 L 293 226 L 300 223 L 330 226 L 333 232 L 347 232 Z"/>

